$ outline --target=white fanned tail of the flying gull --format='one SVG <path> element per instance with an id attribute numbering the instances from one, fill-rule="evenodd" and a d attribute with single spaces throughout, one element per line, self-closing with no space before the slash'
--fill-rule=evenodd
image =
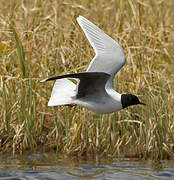
<path id="1" fill-rule="evenodd" d="M 76 84 L 68 79 L 56 80 L 48 106 L 73 104 L 72 97 L 76 95 Z"/>

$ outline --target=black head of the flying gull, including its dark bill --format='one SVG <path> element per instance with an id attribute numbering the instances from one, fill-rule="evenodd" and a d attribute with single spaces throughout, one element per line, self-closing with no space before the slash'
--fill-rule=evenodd
<path id="1" fill-rule="evenodd" d="M 121 104 L 122 104 L 123 108 L 132 106 L 132 105 L 136 105 L 136 104 L 146 105 L 146 104 L 140 102 L 138 97 L 133 94 L 122 94 L 121 95 Z"/>

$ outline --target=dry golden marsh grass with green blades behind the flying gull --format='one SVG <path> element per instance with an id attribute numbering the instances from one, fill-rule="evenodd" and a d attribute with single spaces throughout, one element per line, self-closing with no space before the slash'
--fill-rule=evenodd
<path id="1" fill-rule="evenodd" d="M 2 2 L 0 152 L 173 158 L 173 6 L 172 0 Z M 127 64 L 116 90 L 139 95 L 146 107 L 110 115 L 47 107 L 53 82 L 39 81 L 85 71 L 94 55 L 78 15 L 122 45 Z"/>

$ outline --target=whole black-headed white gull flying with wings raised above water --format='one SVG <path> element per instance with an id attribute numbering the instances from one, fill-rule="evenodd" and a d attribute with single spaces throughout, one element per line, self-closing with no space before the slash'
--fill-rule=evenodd
<path id="1" fill-rule="evenodd" d="M 120 45 L 86 18 L 77 22 L 95 51 L 86 72 L 46 78 L 56 80 L 48 106 L 79 105 L 95 113 L 107 114 L 131 105 L 142 104 L 132 94 L 119 94 L 114 90 L 115 74 L 126 63 Z M 76 79 L 77 84 L 69 79 Z"/>

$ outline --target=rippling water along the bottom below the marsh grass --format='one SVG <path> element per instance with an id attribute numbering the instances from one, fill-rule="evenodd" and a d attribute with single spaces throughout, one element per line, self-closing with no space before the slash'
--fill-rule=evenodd
<path id="1" fill-rule="evenodd" d="M 75 158 L 49 154 L 3 155 L 0 180 L 174 179 L 174 161 Z"/>

